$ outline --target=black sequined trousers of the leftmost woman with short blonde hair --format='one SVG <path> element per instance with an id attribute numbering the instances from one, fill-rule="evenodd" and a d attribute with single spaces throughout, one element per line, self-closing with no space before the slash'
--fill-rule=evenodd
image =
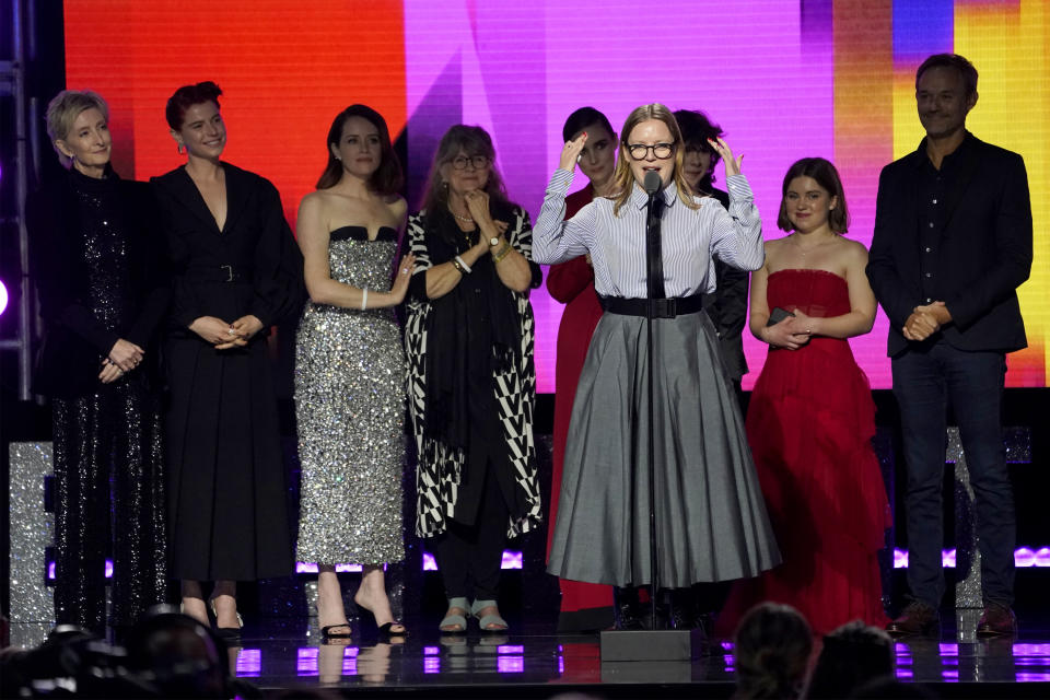
<path id="1" fill-rule="evenodd" d="M 133 623 L 167 597 L 160 400 L 135 375 L 95 394 L 54 399 L 55 620 Z"/>

